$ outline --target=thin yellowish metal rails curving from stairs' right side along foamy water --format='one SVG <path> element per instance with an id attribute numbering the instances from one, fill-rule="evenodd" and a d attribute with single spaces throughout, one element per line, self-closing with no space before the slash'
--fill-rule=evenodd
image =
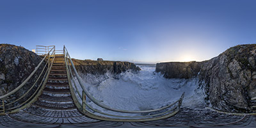
<path id="1" fill-rule="evenodd" d="M 70 58 L 70 55 L 68 54 L 68 51 L 67 51 L 67 48 L 63 47 L 63 52 L 64 52 L 64 56 L 65 56 L 65 63 L 66 63 L 66 68 L 67 68 L 67 76 L 68 76 L 68 83 L 70 84 L 70 90 L 72 90 L 72 98 L 77 106 L 77 108 L 79 108 L 82 113 L 84 113 L 85 115 L 88 115 L 88 116 L 92 116 L 92 118 L 97 118 L 97 119 L 100 119 L 100 120 L 109 120 L 109 121 L 122 121 L 122 122 L 126 122 L 126 121 L 135 121 L 135 122 L 138 122 L 138 121 L 148 121 L 148 120 L 158 120 L 160 118 L 167 118 L 169 116 L 172 116 L 174 115 L 175 113 L 177 113 L 180 109 L 180 106 L 182 104 L 182 99 L 184 97 L 184 93 L 182 93 L 182 96 L 180 97 L 179 100 L 173 102 L 172 104 L 169 104 L 168 106 L 164 106 L 162 108 L 158 108 L 158 109 L 150 109 L 150 110 L 144 110 L 144 111 L 128 111 L 128 110 L 122 110 L 122 109 L 114 109 L 114 108 L 110 108 L 109 106 L 106 106 L 104 104 L 101 104 L 99 102 L 99 100 L 95 99 L 91 94 L 90 92 L 88 92 L 84 86 L 84 84 L 82 83 L 81 81 L 81 78 L 79 77 L 78 73 L 77 73 L 77 70 L 76 68 L 74 67 L 74 63 L 72 62 L 71 58 Z M 69 63 L 70 62 L 70 63 Z M 71 67 L 70 65 L 72 66 L 72 69 L 74 70 L 74 74 L 75 76 L 77 77 L 77 81 L 79 83 L 79 86 L 82 88 L 82 92 L 83 92 L 83 96 L 81 95 L 81 93 L 77 90 L 77 85 L 76 83 L 74 82 L 74 86 L 72 86 L 72 83 L 71 83 L 71 78 L 74 78 L 73 75 L 72 75 L 72 70 L 71 70 Z M 70 77 L 71 76 L 71 77 Z M 74 87 L 76 88 L 76 91 L 74 91 Z M 82 103 L 80 103 L 76 97 L 76 94 L 74 92 L 77 92 L 78 95 L 79 95 L 79 98 L 82 99 Z M 83 98 L 84 97 L 84 98 Z M 175 106 L 175 104 L 177 104 L 176 107 L 173 107 L 173 109 L 170 109 L 168 111 L 165 111 L 164 113 L 157 113 L 155 115 L 146 115 L 146 116 L 120 116 L 120 115 L 111 115 L 111 114 L 108 114 L 108 113 L 103 113 L 101 111 L 98 111 L 97 109 L 94 109 L 92 108 L 92 106 L 90 106 L 89 104 L 87 104 L 85 102 L 85 97 L 88 97 L 90 100 L 92 100 L 92 102 L 94 104 L 97 104 L 97 106 L 100 106 L 101 108 L 104 108 L 104 109 L 108 109 L 110 111 L 114 111 L 114 112 L 118 112 L 118 113 L 152 113 L 152 112 L 156 112 L 156 111 L 161 111 L 163 109 L 167 109 L 167 108 L 172 108 L 172 106 Z M 105 115 L 105 116 L 99 116 L 99 115 L 95 115 L 94 113 L 88 111 L 86 109 L 86 106 L 88 108 L 90 108 L 92 111 L 94 112 L 97 112 L 97 113 L 100 113 L 101 115 Z M 175 110 L 176 109 L 176 110 Z M 175 111 L 173 111 L 175 110 Z M 170 111 L 173 111 L 172 113 L 169 113 Z M 159 116 L 159 115 L 162 115 L 162 116 Z M 114 118 L 109 118 L 108 116 L 113 116 Z M 144 117 L 147 117 L 147 116 L 150 116 L 151 118 L 144 118 Z M 159 116 L 157 118 L 155 118 L 154 116 Z M 116 117 L 124 117 L 126 119 L 120 119 L 120 118 L 116 118 Z M 127 119 L 128 118 L 128 119 Z M 131 119 L 131 118 L 139 118 L 137 120 L 135 119 Z M 142 119 L 141 119 L 142 118 Z"/>

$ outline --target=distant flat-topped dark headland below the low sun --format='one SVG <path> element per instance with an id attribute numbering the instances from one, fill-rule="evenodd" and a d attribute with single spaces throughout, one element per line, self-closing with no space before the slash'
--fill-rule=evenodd
<path id="1" fill-rule="evenodd" d="M 166 78 L 192 78 L 198 75 L 204 62 L 166 62 L 157 63 L 156 72 L 161 72 Z"/>

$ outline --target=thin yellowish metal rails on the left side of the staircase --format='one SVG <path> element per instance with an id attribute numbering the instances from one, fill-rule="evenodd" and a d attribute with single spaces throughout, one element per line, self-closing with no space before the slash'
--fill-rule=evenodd
<path id="1" fill-rule="evenodd" d="M 19 111 L 19 109 L 22 108 L 26 108 L 26 106 L 29 106 L 32 102 L 34 102 L 36 100 L 36 98 L 39 96 L 40 93 L 42 93 L 42 88 L 44 88 L 45 83 L 48 79 L 48 75 L 50 73 L 51 67 L 52 67 L 52 63 L 54 61 L 55 58 L 55 46 L 53 46 L 51 48 L 51 50 L 44 56 L 44 58 L 42 59 L 42 61 L 40 61 L 40 63 L 35 67 L 35 70 L 33 70 L 33 72 L 25 79 L 25 81 L 23 81 L 17 88 L 15 88 L 14 90 L 12 90 L 11 92 L 8 92 L 4 95 L 0 96 L 0 100 L 2 100 L 2 104 L 0 107 L 3 108 L 3 110 L 0 110 L 0 115 L 4 115 L 6 113 L 14 113 L 16 111 Z M 23 93 L 18 99 L 15 99 L 12 102 L 9 103 L 5 103 L 7 102 L 7 98 L 10 95 L 13 95 L 15 92 L 18 92 L 20 90 L 20 88 L 22 88 L 26 83 L 28 83 L 29 79 L 31 79 L 31 77 L 35 74 L 35 72 L 38 70 L 39 67 L 41 67 L 42 63 L 47 60 L 45 62 L 44 67 L 42 68 L 42 72 L 40 72 L 40 75 L 37 77 L 35 83 L 33 83 L 32 86 L 30 86 L 30 88 Z M 51 60 L 51 61 L 50 61 Z M 48 65 L 48 67 L 47 67 Z M 46 69 L 47 68 L 47 69 Z M 46 70 L 45 70 L 46 69 Z M 24 98 L 26 95 L 28 95 L 29 92 L 31 92 L 31 90 L 35 87 L 36 83 L 38 83 L 38 80 L 40 79 L 40 77 L 42 76 L 42 74 L 45 72 L 44 76 L 42 77 L 42 81 L 40 82 L 40 84 L 38 84 L 38 86 L 35 88 L 35 92 L 33 92 L 32 95 L 29 96 L 28 99 L 26 99 L 24 102 L 22 101 L 21 103 L 19 103 L 18 105 L 15 105 L 14 107 L 12 107 L 11 105 L 16 103 L 17 101 L 21 100 L 22 98 Z M 39 90 L 39 91 L 38 91 Z M 11 108 L 6 108 L 7 106 L 11 106 Z"/>

